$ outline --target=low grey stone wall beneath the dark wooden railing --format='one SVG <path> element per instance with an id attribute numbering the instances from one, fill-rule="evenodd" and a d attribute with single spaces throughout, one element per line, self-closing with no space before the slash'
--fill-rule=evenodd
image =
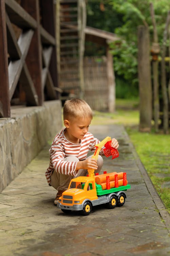
<path id="1" fill-rule="evenodd" d="M 0 118 L 0 192 L 62 129 L 60 100 L 43 106 L 13 106 L 11 118 Z"/>

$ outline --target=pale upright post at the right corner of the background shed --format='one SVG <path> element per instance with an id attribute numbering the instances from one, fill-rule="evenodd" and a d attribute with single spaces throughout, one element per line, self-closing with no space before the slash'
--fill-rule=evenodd
<path id="1" fill-rule="evenodd" d="M 107 83 L 108 83 L 108 111 L 115 112 L 115 74 L 113 67 L 113 56 L 109 51 L 109 46 L 106 46 L 107 56 Z"/>

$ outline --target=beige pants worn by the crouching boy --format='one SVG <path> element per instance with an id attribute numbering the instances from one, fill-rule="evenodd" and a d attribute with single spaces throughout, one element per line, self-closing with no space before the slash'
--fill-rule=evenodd
<path id="1" fill-rule="evenodd" d="M 87 158 L 91 158 L 91 157 L 92 157 L 92 155 Z M 79 161 L 79 159 L 75 156 L 68 156 L 64 160 L 70 161 L 70 162 L 78 162 Z M 103 166 L 103 158 L 100 155 L 98 156 L 98 159 L 97 159 L 97 165 L 98 165 L 98 169 L 95 170 L 95 173 L 96 172 L 99 173 Z M 53 171 L 53 173 L 51 175 L 51 183 L 50 184 L 56 190 L 66 190 L 69 186 L 71 179 L 78 177 L 78 176 L 87 176 L 87 174 L 88 174 L 87 170 L 83 170 L 83 169 L 80 169 L 76 176 L 65 175 L 65 174 L 61 174 L 56 171 Z"/>

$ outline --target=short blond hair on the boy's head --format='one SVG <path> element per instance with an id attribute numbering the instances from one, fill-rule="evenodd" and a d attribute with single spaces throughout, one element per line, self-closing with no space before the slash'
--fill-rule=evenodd
<path id="1" fill-rule="evenodd" d="M 81 99 L 66 100 L 63 108 L 63 119 L 69 120 L 80 117 L 92 119 L 92 110 L 87 102 Z"/>

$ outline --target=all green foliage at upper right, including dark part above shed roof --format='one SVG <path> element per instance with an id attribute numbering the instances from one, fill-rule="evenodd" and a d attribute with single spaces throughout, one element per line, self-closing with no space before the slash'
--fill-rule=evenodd
<path id="1" fill-rule="evenodd" d="M 115 75 L 118 76 L 119 84 L 126 81 L 129 86 L 130 97 L 136 96 L 138 91 L 137 79 L 137 27 L 148 25 L 153 34 L 153 25 L 150 14 L 150 2 L 153 3 L 159 43 L 162 43 L 163 32 L 168 10 L 170 10 L 169 0 L 105 0 L 104 10 L 100 9 L 100 1 L 90 0 L 87 2 L 87 26 L 103 29 L 116 33 L 121 37 L 121 41 L 112 43 L 112 53 L 114 55 Z M 103 55 L 105 50 L 99 45 L 89 43 L 85 54 Z M 120 80 L 122 79 L 122 82 Z M 127 95 L 126 87 L 117 88 L 117 94 L 121 97 Z"/>

